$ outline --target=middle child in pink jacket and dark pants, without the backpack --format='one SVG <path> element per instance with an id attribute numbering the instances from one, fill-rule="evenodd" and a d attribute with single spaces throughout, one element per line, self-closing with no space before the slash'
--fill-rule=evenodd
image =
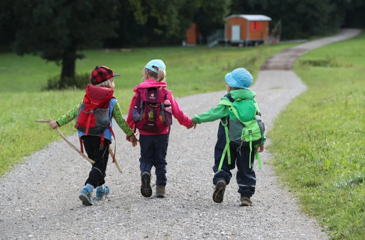
<path id="1" fill-rule="evenodd" d="M 170 90 L 161 89 L 167 86 L 165 82 L 166 76 L 165 63 L 160 59 L 149 61 L 142 70 L 142 83 L 134 88 L 134 96 L 129 105 L 127 123 L 133 129 L 135 122 L 132 117 L 132 109 L 136 106 L 140 89 L 156 88 L 155 91 L 166 92 L 167 100 L 170 101 L 172 115 L 177 119 L 178 123 L 186 126 L 188 129 L 194 126 L 194 122 L 184 111 L 178 106 L 176 99 L 172 96 Z M 156 94 L 157 95 L 157 94 Z M 147 113 L 146 113 L 147 114 Z M 138 128 L 138 127 L 137 127 Z M 168 135 L 170 126 L 163 126 L 158 132 L 151 132 L 146 128 L 139 130 L 139 145 L 141 147 L 140 172 L 141 172 L 141 194 L 144 197 L 152 195 L 151 168 L 155 167 L 156 174 L 156 197 L 165 197 L 166 178 L 166 154 L 168 145 Z M 128 136 L 127 136 L 127 140 Z"/>

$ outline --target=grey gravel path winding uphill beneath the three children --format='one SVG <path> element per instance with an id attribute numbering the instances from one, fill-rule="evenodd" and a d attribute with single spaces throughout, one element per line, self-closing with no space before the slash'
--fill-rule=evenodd
<path id="1" fill-rule="evenodd" d="M 295 59 L 358 33 L 344 30 L 268 59 L 252 87 L 267 131 L 285 105 L 306 89 L 290 70 Z M 194 116 L 215 106 L 224 94 L 198 94 L 179 98 L 178 102 Z M 90 163 L 62 139 L 50 143 L 0 179 L 0 239 L 329 239 L 315 219 L 300 212 L 296 197 L 278 186 L 272 167 L 265 164 L 271 159 L 267 151 L 261 154 L 263 168 L 255 164 L 254 206 L 239 206 L 235 179 L 227 186 L 224 201 L 213 202 L 218 123 L 203 123 L 196 130 L 187 130 L 174 121 L 167 153 L 166 198 L 144 198 L 140 194 L 139 147 L 125 141 L 119 128 L 116 156 L 123 173 L 109 164 L 106 182 L 111 193 L 93 206 L 83 206 L 78 198 Z M 79 145 L 76 134 L 69 139 Z"/>

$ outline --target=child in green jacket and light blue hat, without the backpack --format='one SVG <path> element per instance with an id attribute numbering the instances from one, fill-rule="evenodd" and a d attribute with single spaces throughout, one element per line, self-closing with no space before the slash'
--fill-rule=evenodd
<path id="1" fill-rule="evenodd" d="M 238 98 L 242 100 L 254 99 L 256 93 L 249 88 L 253 77 L 245 68 L 237 68 L 227 73 L 225 79 L 228 94 L 222 97 L 222 100 L 234 101 Z M 192 120 L 196 124 L 215 121 L 221 118 L 227 118 L 229 113 L 228 105 L 218 104 L 216 107 L 204 113 L 195 115 Z M 241 206 L 252 206 L 251 196 L 255 193 L 256 186 L 256 175 L 253 169 L 255 151 L 262 152 L 264 150 L 265 140 L 266 137 L 264 136 L 261 142 L 255 145 L 256 149 L 254 150 L 250 150 L 250 146 L 244 146 L 231 141 L 229 143 L 231 163 L 229 164 L 228 154 L 225 154 L 224 150 L 227 142 L 226 131 L 222 122 L 219 123 L 218 139 L 214 151 L 215 164 L 213 166 L 215 173 L 213 177 L 213 184 L 215 185 L 213 200 L 215 202 L 221 203 L 223 201 L 226 185 L 229 184 L 232 177 L 231 170 L 237 165 L 237 183 L 238 192 L 241 194 Z M 223 154 L 225 154 L 224 160 L 221 167 L 219 167 Z"/>

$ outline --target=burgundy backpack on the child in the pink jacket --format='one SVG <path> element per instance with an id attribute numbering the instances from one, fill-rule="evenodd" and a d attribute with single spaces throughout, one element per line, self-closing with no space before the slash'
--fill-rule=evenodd
<path id="1" fill-rule="evenodd" d="M 172 113 L 165 111 L 163 104 L 167 94 L 168 90 L 161 86 L 138 89 L 136 103 L 132 108 L 136 128 L 158 133 L 172 124 Z"/>

